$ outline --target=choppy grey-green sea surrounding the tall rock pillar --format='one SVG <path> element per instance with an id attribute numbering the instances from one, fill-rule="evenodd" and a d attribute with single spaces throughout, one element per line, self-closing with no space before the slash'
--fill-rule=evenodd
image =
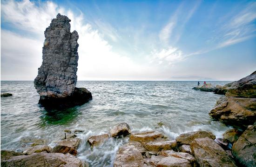
<path id="1" fill-rule="evenodd" d="M 229 82 L 207 82 L 224 85 Z M 213 121 L 209 111 L 221 95 L 192 90 L 196 81 L 78 81 L 93 100 L 65 110 L 47 111 L 38 104 L 39 95 L 32 81 L 1 81 L 1 149 L 21 152 L 31 143 L 24 139 L 44 139 L 54 147 L 64 137 L 64 129 L 83 133 L 77 157 L 90 166 L 113 166 L 118 148 L 128 137 L 109 139 L 90 148 L 91 135 L 108 132 L 127 122 L 132 132 L 158 130 L 170 140 L 195 130 L 211 131 L 217 137 L 231 127 Z M 158 122 L 162 122 L 160 127 Z"/>

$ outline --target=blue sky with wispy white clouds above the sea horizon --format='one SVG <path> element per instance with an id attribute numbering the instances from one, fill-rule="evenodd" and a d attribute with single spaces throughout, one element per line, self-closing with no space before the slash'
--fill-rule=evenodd
<path id="1" fill-rule="evenodd" d="M 61 13 L 78 80 L 225 80 L 256 71 L 255 0 L 1 0 L 1 80 L 34 80 Z"/>

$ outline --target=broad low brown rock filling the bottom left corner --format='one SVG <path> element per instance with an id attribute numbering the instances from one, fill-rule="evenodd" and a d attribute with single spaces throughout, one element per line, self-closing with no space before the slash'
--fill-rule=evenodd
<path id="1" fill-rule="evenodd" d="M 85 163 L 70 154 L 34 153 L 1 161 L 1 167 L 86 167 Z"/>

